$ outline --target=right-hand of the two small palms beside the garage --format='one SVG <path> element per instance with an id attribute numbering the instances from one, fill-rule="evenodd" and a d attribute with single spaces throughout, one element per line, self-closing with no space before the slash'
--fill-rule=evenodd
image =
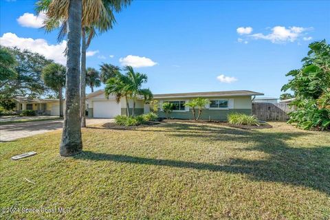
<path id="1" fill-rule="evenodd" d="M 132 116 L 134 116 L 137 97 L 143 96 L 144 101 L 148 101 L 152 100 L 153 94 L 150 89 L 142 89 L 142 84 L 148 81 L 146 74 L 135 73 L 131 66 L 124 67 L 124 71 L 126 71 L 124 85 L 126 85 L 126 90 L 129 91 L 129 97 L 133 99 Z"/>

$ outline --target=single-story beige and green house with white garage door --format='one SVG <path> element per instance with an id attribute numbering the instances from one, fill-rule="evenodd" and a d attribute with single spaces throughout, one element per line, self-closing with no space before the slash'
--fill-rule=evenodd
<path id="1" fill-rule="evenodd" d="M 226 120 L 228 113 L 239 112 L 251 115 L 252 113 L 252 96 L 263 96 L 263 94 L 255 91 L 239 90 L 239 91 L 210 91 L 210 92 L 193 92 L 180 94 L 155 94 L 153 98 L 158 100 L 158 115 L 166 118 L 162 111 L 162 104 L 170 102 L 175 105 L 175 109 L 170 113 L 170 117 L 178 119 L 191 119 L 192 109 L 185 106 L 185 103 L 193 98 L 208 98 L 210 104 L 203 109 L 201 114 L 202 120 Z M 88 99 L 88 115 L 91 118 L 113 118 L 116 115 L 126 115 L 126 100 L 122 98 L 119 103 L 115 101 L 114 96 L 107 99 L 103 90 L 94 91 L 87 95 Z M 129 111 L 133 107 L 133 100 L 129 100 Z M 137 98 L 135 114 L 148 113 L 150 106 L 144 103 L 142 97 Z"/>

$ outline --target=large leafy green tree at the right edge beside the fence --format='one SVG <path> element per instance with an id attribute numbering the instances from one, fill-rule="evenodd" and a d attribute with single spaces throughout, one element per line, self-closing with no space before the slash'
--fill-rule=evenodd
<path id="1" fill-rule="evenodd" d="M 330 45 L 325 40 L 309 44 L 303 67 L 290 71 L 292 80 L 282 87 L 291 89 L 296 99 L 289 123 L 303 129 L 330 129 Z"/>

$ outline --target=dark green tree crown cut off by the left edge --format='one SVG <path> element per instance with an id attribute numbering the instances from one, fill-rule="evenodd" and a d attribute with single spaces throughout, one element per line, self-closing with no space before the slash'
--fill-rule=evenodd
<path id="1" fill-rule="evenodd" d="M 14 55 L 5 47 L 0 47 L 0 88 L 8 81 L 17 78 L 17 72 L 14 69 L 17 65 Z"/>

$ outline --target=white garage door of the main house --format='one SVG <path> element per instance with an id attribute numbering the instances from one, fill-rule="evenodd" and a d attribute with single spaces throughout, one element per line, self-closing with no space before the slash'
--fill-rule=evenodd
<path id="1" fill-rule="evenodd" d="M 120 104 L 114 100 L 93 102 L 94 118 L 113 118 L 120 115 Z"/>

